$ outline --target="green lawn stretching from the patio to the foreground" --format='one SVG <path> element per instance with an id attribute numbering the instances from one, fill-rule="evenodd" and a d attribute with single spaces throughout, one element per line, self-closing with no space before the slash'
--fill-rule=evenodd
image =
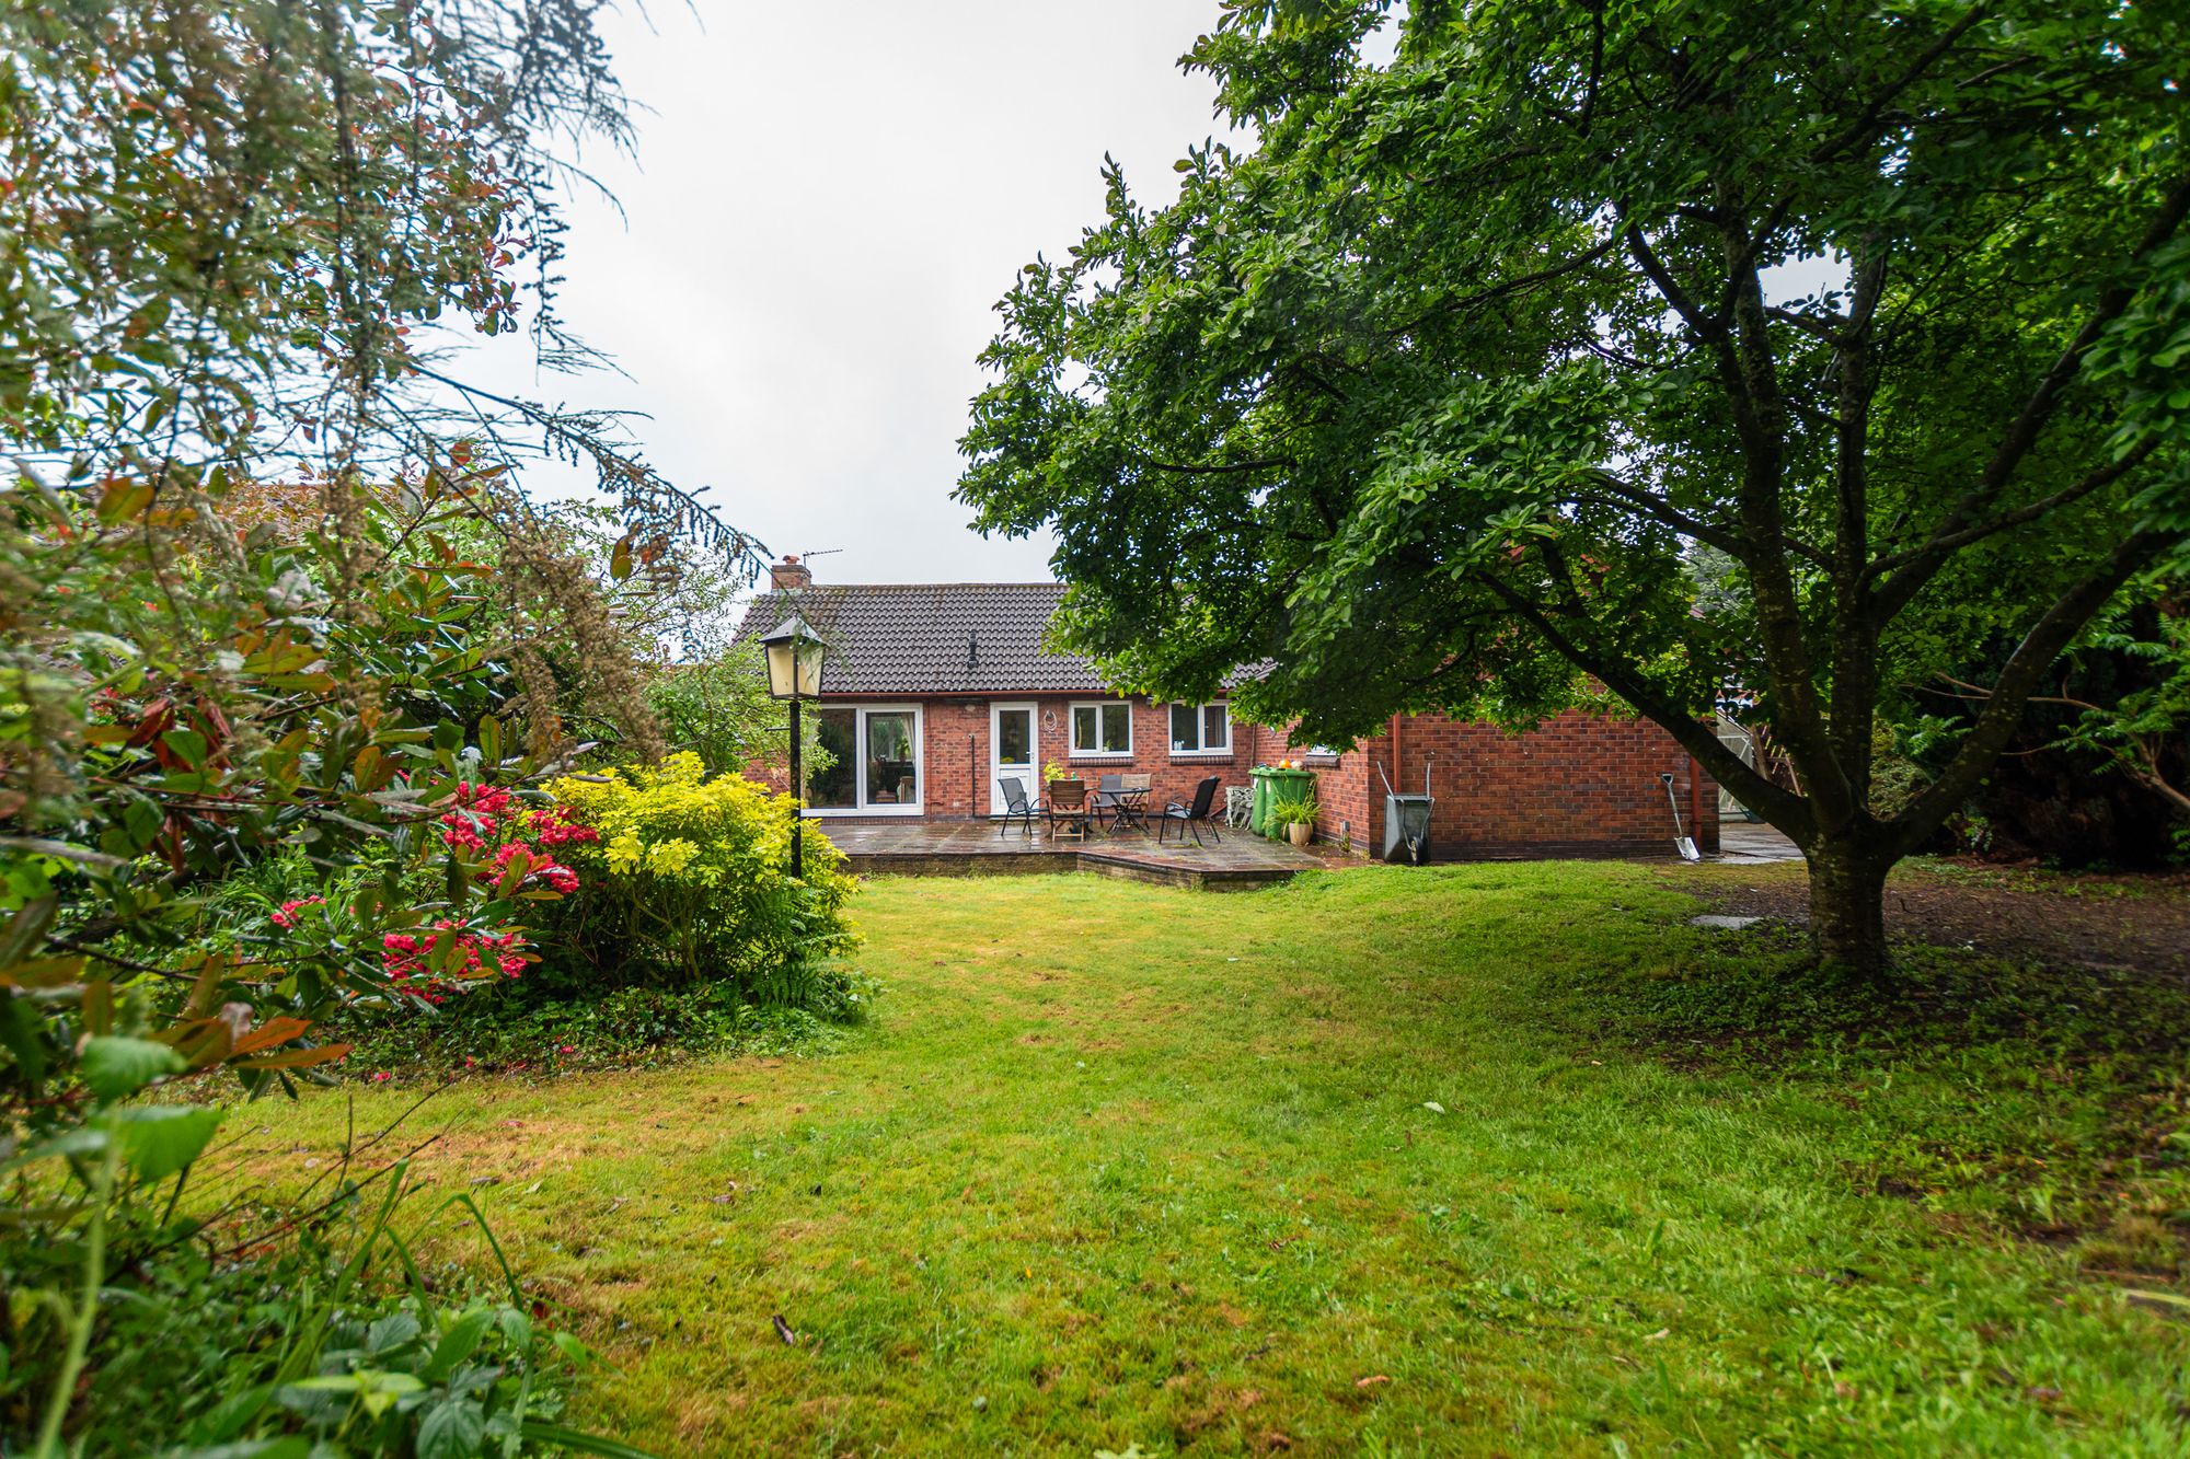
<path id="1" fill-rule="evenodd" d="M 856 911 L 885 992 L 837 1052 L 412 1115 L 416 1170 L 613 1363 L 574 1422 L 664 1455 L 2190 1446 L 2190 1200 L 2131 1157 L 2179 1054 L 1973 1012 L 2043 986 L 2013 970 L 1789 1003 L 1770 938 L 1623 865 Z M 350 1098 L 366 1130 L 416 1093 L 265 1111 L 237 1157 L 324 1168 Z"/>

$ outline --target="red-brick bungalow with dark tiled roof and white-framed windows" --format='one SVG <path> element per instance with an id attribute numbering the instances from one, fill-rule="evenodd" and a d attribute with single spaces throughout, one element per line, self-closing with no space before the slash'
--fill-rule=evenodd
<path id="1" fill-rule="evenodd" d="M 1691 835 L 1719 846 L 1715 784 L 1649 721 L 1568 712 L 1511 736 L 1402 714 L 1356 745 L 1294 745 L 1283 730 L 1233 721 L 1222 699 L 1121 697 L 1088 659 L 1049 653 L 1058 583 L 815 585 L 788 556 L 771 578 L 775 591 L 753 600 L 738 635 L 769 633 L 795 602 L 830 644 L 821 703 L 806 714 L 837 765 L 808 778 L 812 817 L 1001 815 L 999 782 L 1038 793 L 1051 762 L 1088 780 L 1148 773 L 1161 806 L 1189 800 L 1207 776 L 1244 786 L 1255 765 L 1299 760 L 1316 771 L 1318 835 L 1362 852 L 1382 848 L 1382 765 L 1399 791 L 1421 791 L 1428 767 L 1439 861 L 1667 854 L 1673 819 L 1658 776 L 1671 771 Z"/>

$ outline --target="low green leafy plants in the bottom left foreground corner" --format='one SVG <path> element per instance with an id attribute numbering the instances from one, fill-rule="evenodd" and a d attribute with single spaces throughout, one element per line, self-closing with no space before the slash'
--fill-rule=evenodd
<path id="1" fill-rule="evenodd" d="M 15 1303 L 0 1452 L 46 1452 L 46 1437 L 77 1455 L 633 1452 L 554 1422 L 567 1369 L 593 1358 L 537 1321 L 508 1268 L 495 1288 L 418 1268 L 392 1220 L 403 1174 L 245 1231 L 175 1218 L 158 1190 L 116 1192 L 92 1242 L 15 1227 L 0 1257 L 18 1284 L 101 1299 Z M 412 1225 L 449 1205 L 480 1220 L 458 1196 Z"/>

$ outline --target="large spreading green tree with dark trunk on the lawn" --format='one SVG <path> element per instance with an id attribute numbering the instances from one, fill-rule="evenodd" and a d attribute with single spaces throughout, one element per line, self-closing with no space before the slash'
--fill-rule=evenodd
<path id="1" fill-rule="evenodd" d="M 1809 857 L 1822 957 L 2183 543 L 2190 11 L 2116 0 L 1242 0 L 1250 147 L 1108 173 L 964 440 L 1121 681 L 1360 734 L 1610 690 Z M 1391 64 L 1362 42 L 1397 24 Z M 1734 563 L 1699 594 L 1688 559 Z M 1872 804 L 1881 716 L 2019 646 Z M 1800 784 L 1706 714 L 1752 694 Z"/>

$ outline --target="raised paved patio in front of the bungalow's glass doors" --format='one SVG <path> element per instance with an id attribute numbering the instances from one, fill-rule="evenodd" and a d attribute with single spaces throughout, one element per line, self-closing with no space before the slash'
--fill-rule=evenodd
<path id="1" fill-rule="evenodd" d="M 1281 841 L 1244 830 L 1226 830 L 1224 841 L 1202 830 L 1202 846 L 1169 835 L 1163 846 L 1152 835 L 1091 832 L 1084 841 L 1053 839 L 1036 828 L 1027 837 L 996 822 L 839 822 L 815 826 L 841 850 L 858 876 L 1010 876 L 1025 872 L 1102 872 L 1128 881 L 1169 887 L 1233 892 L 1268 887 L 1323 859 Z"/>

